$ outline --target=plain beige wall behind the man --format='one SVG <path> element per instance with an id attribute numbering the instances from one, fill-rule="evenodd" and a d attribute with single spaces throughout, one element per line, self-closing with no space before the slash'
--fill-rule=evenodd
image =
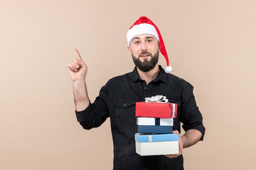
<path id="1" fill-rule="evenodd" d="M 112 169 L 109 119 L 76 121 L 67 63 L 77 48 L 94 101 L 132 71 L 126 32 L 145 15 L 162 33 L 173 74 L 194 86 L 206 134 L 184 149 L 186 170 L 255 165 L 253 0 L 1 0 L 0 169 Z M 162 55 L 161 55 L 162 56 Z M 159 63 L 166 66 L 164 57 Z"/>

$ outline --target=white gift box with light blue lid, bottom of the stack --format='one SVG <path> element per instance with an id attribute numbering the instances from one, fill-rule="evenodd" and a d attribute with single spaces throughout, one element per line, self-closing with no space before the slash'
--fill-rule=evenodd
<path id="1" fill-rule="evenodd" d="M 178 134 L 135 134 L 136 153 L 141 156 L 169 155 L 179 153 Z"/>

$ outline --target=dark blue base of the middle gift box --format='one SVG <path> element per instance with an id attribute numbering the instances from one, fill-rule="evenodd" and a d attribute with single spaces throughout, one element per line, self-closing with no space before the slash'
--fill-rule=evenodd
<path id="1" fill-rule="evenodd" d="M 143 126 L 138 125 L 137 131 L 139 133 L 173 133 L 173 126 Z"/>

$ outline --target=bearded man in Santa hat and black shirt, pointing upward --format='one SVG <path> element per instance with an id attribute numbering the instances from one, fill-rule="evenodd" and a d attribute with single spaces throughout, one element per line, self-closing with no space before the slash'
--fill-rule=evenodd
<path id="1" fill-rule="evenodd" d="M 76 117 L 85 129 L 100 126 L 110 117 L 114 144 L 115 170 L 183 170 L 182 149 L 203 139 L 204 126 L 193 95 L 193 86 L 169 74 L 168 56 L 157 26 L 140 17 L 127 33 L 128 51 L 135 63 L 131 73 L 110 79 L 91 103 L 85 76 L 87 66 L 75 49 L 76 58 L 68 64 L 74 88 Z M 167 67 L 158 65 L 159 51 L 166 58 Z M 145 97 L 164 95 L 177 103 L 177 118 L 173 133 L 179 135 L 179 154 L 140 156 L 135 152 L 134 134 L 137 132 L 135 102 Z M 184 135 L 180 135 L 180 122 Z"/>

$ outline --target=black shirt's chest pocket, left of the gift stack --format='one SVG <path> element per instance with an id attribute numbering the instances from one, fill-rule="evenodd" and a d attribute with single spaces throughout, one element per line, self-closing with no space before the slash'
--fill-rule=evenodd
<path id="1" fill-rule="evenodd" d="M 117 128 L 121 132 L 137 132 L 135 104 L 137 99 L 114 101 Z"/>

